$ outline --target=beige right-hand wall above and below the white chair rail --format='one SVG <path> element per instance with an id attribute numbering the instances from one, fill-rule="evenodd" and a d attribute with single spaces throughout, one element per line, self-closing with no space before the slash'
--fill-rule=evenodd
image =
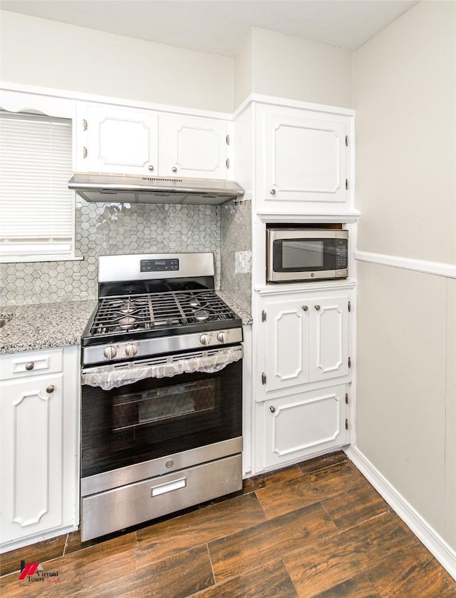
<path id="1" fill-rule="evenodd" d="M 354 53 L 360 257 L 456 264 L 455 7 L 419 2 Z M 360 263 L 356 413 L 358 449 L 454 549 L 455 287 Z"/>

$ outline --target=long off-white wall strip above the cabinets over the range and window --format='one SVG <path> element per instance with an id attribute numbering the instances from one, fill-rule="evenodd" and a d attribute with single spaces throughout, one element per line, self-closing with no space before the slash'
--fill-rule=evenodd
<path id="1" fill-rule="evenodd" d="M 3 81 L 233 110 L 233 59 L 9 11 L 0 16 Z"/>

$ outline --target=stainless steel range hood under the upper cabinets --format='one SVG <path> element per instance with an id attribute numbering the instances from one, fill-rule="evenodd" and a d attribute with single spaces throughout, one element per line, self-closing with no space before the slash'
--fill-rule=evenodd
<path id="1" fill-rule="evenodd" d="M 75 173 L 68 188 L 86 201 L 99 203 L 219 205 L 244 193 L 233 181 L 95 173 Z"/>

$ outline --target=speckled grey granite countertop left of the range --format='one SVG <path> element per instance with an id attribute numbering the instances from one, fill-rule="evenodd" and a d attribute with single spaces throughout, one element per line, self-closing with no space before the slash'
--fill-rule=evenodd
<path id="1" fill-rule="evenodd" d="M 0 353 L 79 345 L 96 305 L 86 300 L 1 308 L 2 318 L 12 317 L 0 328 Z"/>

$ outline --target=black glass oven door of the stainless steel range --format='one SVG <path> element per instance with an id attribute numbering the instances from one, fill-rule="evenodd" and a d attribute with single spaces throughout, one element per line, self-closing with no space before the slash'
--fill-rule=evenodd
<path id="1" fill-rule="evenodd" d="M 120 472 L 122 483 L 133 481 L 126 470 L 161 475 L 174 465 L 170 455 L 242 437 L 242 359 L 215 373 L 150 377 L 112 390 L 83 385 L 81 413 L 83 487 L 90 478 L 92 491 L 100 490 L 92 482 L 106 472 Z M 140 472 L 145 462 L 154 468 Z"/>

